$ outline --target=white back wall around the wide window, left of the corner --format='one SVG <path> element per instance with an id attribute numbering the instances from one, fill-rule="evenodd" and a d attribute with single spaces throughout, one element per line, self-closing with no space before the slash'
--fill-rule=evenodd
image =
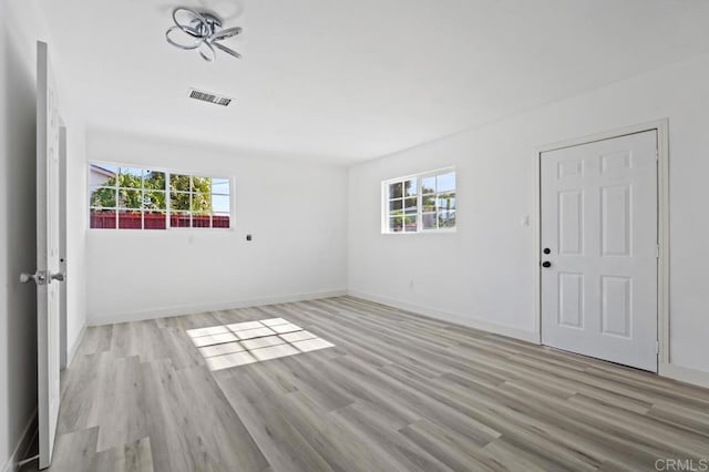
<path id="1" fill-rule="evenodd" d="M 346 168 L 104 131 L 90 131 L 86 146 L 88 160 L 236 182 L 233 230 L 90 229 L 90 322 L 347 289 Z"/>

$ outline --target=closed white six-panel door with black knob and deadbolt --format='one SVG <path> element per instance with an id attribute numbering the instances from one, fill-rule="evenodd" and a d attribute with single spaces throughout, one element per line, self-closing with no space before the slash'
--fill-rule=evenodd
<path id="1" fill-rule="evenodd" d="M 657 131 L 541 155 L 542 342 L 657 371 Z"/>

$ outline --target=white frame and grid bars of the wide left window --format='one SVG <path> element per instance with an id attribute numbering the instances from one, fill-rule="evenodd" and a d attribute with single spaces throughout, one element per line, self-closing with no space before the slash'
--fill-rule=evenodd
<path id="1" fill-rule="evenodd" d="M 92 228 L 91 227 L 91 212 L 92 212 L 92 205 L 91 205 L 91 166 L 92 165 L 96 165 L 100 167 L 104 167 L 104 166 L 110 166 L 110 167 L 116 167 L 119 170 L 121 168 L 135 168 L 135 170 L 141 170 L 142 172 L 145 171 L 153 171 L 153 172 L 160 172 L 160 173 L 164 173 L 165 174 L 165 188 L 163 189 L 155 189 L 156 192 L 164 192 L 165 194 L 165 228 L 164 229 L 146 229 L 145 228 L 145 209 L 144 208 L 140 208 L 142 218 L 141 218 L 141 227 L 140 228 L 121 228 L 119 227 L 120 225 L 120 220 L 119 220 L 119 215 L 120 215 L 120 211 L 122 209 L 119 205 L 117 202 L 117 191 L 119 189 L 124 189 L 125 187 L 119 187 L 117 185 L 113 188 L 116 189 L 116 202 L 115 202 L 115 207 L 114 208 L 110 208 L 110 209 L 114 209 L 116 213 L 116 226 L 114 228 Z M 119 171 L 120 172 L 120 171 Z M 226 174 L 226 173 L 225 173 Z M 193 211 L 188 211 L 188 212 L 179 212 L 177 211 L 177 213 L 175 213 L 175 215 L 178 214 L 188 214 L 189 215 L 189 224 L 191 226 L 172 226 L 172 208 L 171 208 L 171 188 L 169 188 L 169 177 L 172 175 L 186 175 L 189 177 L 202 177 L 202 178 L 210 178 L 210 179 L 222 179 L 222 181 L 228 181 L 229 182 L 229 226 L 228 227 L 193 227 L 192 226 L 192 217 L 193 217 Z M 144 178 L 144 176 L 142 176 L 142 178 Z M 144 186 L 144 182 L 142 181 L 142 185 L 140 188 L 131 188 L 131 189 L 136 189 L 140 192 L 143 192 L 143 197 L 144 197 L 144 192 L 145 192 L 145 186 Z M 235 187 L 235 177 L 234 175 L 216 175 L 213 173 L 208 173 L 208 172 L 199 172 L 199 171 L 184 171 L 184 170 L 175 170 L 175 168 L 168 168 L 168 167 L 160 167 L 160 166 L 153 166 L 150 164 L 131 164 L 131 163 L 119 163 L 119 162 L 111 162 L 111 161 L 96 161 L 96 160 L 92 160 L 88 162 L 86 165 L 86 226 L 88 229 L 90 230 L 99 230 L 99 232 L 104 232 L 106 230 L 106 233 L 110 233 L 111 230 L 127 230 L 127 232 L 147 232 L 147 233 L 161 233 L 161 232 L 168 232 L 168 230 L 179 230 L 179 232 L 189 232 L 189 230 L 197 230 L 197 232 L 234 232 L 235 230 L 235 204 L 236 204 L 236 197 L 235 197 L 235 192 L 236 187 Z M 183 193 L 188 193 L 189 194 L 189 199 L 192 202 L 192 195 L 194 193 L 198 193 L 198 192 L 193 192 L 192 188 L 189 191 L 183 192 Z M 214 191 L 210 192 L 209 194 L 212 197 L 214 197 L 215 195 L 218 196 L 225 196 L 225 194 L 215 194 Z M 192 206 L 192 205 L 191 205 Z M 123 208 L 123 209 L 132 209 L 132 208 Z M 209 214 L 210 218 L 214 216 L 214 211 Z M 226 214 L 225 212 L 216 212 L 219 214 Z M 210 219 L 210 223 L 213 220 Z"/>

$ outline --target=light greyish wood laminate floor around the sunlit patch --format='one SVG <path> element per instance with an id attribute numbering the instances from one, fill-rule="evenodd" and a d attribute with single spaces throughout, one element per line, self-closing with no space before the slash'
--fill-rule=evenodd
<path id="1" fill-rule="evenodd" d="M 335 347 L 210 371 L 187 335 L 276 317 Z M 62 391 L 53 471 L 709 460 L 709 390 L 351 297 L 89 328 Z"/>

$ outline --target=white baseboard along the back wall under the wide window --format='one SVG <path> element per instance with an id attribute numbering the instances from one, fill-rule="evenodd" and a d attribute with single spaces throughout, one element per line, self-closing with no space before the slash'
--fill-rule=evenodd
<path id="1" fill-rule="evenodd" d="M 254 298 L 248 300 L 225 301 L 219 304 L 175 306 L 151 310 L 130 311 L 112 315 L 89 315 L 89 326 L 113 325 L 126 321 L 143 321 L 146 319 L 167 318 L 173 316 L 195 315 L 205 311 L 232 310 L 235 308 L 257 307 L 263 305 L 287 304 L 290 301 L 315 300 L 317 298 L 341 297 L 347 295 L 346 289 L 316 291 L 310 294 L 294 294 L 279 297 Z"/>

